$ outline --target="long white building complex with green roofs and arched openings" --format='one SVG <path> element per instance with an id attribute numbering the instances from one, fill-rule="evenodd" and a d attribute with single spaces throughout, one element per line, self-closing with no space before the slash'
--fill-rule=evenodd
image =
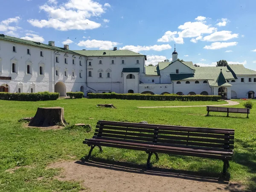
<path id="1" fill-rule="evenodd" d="M 0 92 L 177 93 L 254 98 L 256 71 L 241 64 L 194 67 L 180 62 L 145 66 L 130 50 L 69 50 L 0 34 Z"/>

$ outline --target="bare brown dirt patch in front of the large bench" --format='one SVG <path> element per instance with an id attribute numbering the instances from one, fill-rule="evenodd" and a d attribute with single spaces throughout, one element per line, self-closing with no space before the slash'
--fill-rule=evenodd
<path id="1" fill-rule="evenodd" d="M 57 162 L 49 168 L 62 168 L 58 180 L 80 181 L 92 192 L 242 192 L 243 186 L 215 177 L 175 173 L 170 169 L 145 170 L 142 166 L 95 161 Z"/>

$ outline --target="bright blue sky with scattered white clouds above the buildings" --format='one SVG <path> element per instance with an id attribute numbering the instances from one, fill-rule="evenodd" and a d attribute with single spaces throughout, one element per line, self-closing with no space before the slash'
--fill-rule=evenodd
<path id="1" fill-rule="evenodd" d="M 70 49 L 130 49 L 147 64 L 220 59 L 256 70 L 255 0 L 8 0 L 0 33 Z"/>

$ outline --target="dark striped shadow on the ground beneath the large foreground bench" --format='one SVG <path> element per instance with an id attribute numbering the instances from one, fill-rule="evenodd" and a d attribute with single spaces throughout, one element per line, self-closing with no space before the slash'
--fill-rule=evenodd
<path id="1" fill-rule="evenodd" d="M 119 162 L 115 160 L 103 160 L 96 157 L 91 157 L 90 160 L 79 160 L 75 163 L 84 165 L 84 166 L 93 166 L 103 169 L 110 169 L 115 171 L 129 172 L 129 173 L 139 173 L 144 175 L 155 175 L 161 177 L 174 177 L 187 180 L 196 180 L 201 182 L 211 182 L 211 183 L 220 183 L 228 184 L 229 178 L 219 177 L 217 173 L 209 172 L 192 172 L 176 169 L 164 169 L 153 167 L 152 169 L 146 169 L 146 166 Z M 211 175 L 211 176 L 209 176 Z"/>

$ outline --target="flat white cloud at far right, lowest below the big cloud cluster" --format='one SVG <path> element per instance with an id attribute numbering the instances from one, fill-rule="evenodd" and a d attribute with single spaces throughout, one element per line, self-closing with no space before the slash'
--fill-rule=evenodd
<path id="1" fill-rule="evenodd" d="M 202 41 L 227 41 L 232 38 L 238 38 L 238 34 L 231 34 L 231 31 L 217 31 L 205 36 Z"/>

